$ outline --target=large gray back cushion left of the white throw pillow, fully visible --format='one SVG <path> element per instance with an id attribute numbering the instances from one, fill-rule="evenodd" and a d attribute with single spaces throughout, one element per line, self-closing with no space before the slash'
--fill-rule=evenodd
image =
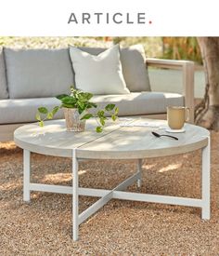
<path id="1" fill-rule="evenodd" d="M 52 97 L 73 84 L 69 49 L 4 49 L 9 98 Z"/>

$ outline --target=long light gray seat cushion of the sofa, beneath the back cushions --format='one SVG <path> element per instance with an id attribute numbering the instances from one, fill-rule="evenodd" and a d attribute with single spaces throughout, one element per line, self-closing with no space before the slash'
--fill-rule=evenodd
<path id="1" fill-rule="evenodd" d="M 184 105 L 184 97 L 176 93 L 162 92 L 132 92 L 120 95 L 96 95 L 92 98 L 99 107 L 108 103 L 115 103 L 119 109 L 119 115 L 148 115 L 166 113 L 169 105 Z M 59 105 L 55 98 L 15 99 L 0 101 L 0 124 L 34 122 L 35 114 L 39 106 L 52 109 Z M 63 118 L 60 110 L 55 118 Z"/>

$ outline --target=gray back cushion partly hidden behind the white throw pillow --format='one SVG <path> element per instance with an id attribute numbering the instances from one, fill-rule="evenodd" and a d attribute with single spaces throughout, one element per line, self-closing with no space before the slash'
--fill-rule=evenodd
<path id="1" fill-rule="evenodd" d="M 97 55 L 105 50 L 99 47 L 79 47 Z M 122 73 L 130 91 L 150 91 L 146 56 L 142 45 L 121 48 Z"/>

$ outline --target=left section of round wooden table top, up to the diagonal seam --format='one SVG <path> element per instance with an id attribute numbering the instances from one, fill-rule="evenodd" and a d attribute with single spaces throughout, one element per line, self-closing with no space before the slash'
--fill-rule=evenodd
<path id="1" fill-rule="evenodd" d="M 72 132 L 66 130 L 65 120 L 46 121 L 43 128 L 35 123 L 16 129 L 14 141 L 20 148 L 31 152 L 71 157 L 73 148 L 97 140 L 112 130 L 120 128 L 113 123 L 105 128 L 104 132 L 97 133 L 96 127 L 96 120 L 89 120 L 84 132 Z"/>

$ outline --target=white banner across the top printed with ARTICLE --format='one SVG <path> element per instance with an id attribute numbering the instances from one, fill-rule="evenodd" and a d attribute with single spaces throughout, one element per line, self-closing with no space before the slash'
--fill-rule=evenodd
<path id="1" fill-rule="evenodd" d="M 1 0 L 0 35 L 219 35 L 217 1 Z"/>

